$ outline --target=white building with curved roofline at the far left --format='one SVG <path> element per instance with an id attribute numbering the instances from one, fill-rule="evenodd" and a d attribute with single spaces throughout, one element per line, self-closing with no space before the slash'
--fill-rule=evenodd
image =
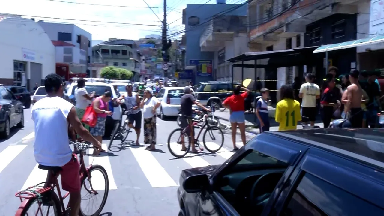
<path id="1" fill-rule="evenodd" d="M 0 16 L 0 32 L 0 83 L 30 90 L 55 73 L 55 46 L 38 23 Z"/>

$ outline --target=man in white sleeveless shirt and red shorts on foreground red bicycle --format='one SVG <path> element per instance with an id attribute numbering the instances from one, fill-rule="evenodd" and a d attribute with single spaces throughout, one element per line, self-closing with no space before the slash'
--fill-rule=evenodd
<path id="1" fill-rule="evenodd" d="M 63 98 L 61 77 L 50 74 L 44 82 L 47 97 L 37 101 L 31 109 L 31 118 L 35 123 L 35 160 L 44 166 L 61 167 L 61 187 L 70 192 L 70 215 L 77 216 L 81 201 L 80 166 L 69 146 L 68 124 L 85 141 L 93 144 L 96 154 L 101 151 L 101 143 L 81 124 L 73 104 Z M 48 172 L 47 179 L 51 174 Z"/>

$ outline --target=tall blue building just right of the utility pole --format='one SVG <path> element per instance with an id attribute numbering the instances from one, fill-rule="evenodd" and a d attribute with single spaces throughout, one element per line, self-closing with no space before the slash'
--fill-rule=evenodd
<path id="1" fill-rule="evenodd" d="M 221 1 L 218 4 L 187 5 L 187 8 L 183 10 L 182 24 L 185 25 L 185 37 L 183 36 L 185 39 L 182 39 L 182 44 L 185 44 L 185 65 L 197 64 L 197 69 L 207 68 L 206 71 L 196 70 L 196 73 L 192 75 L 192 82 L 199 83 L 214 79 L 216 69 L 214 65 L 217 65 L 217 63 L 214 63 L 214 59 L 217 47 L 215 49 L 202 49 L 200 42 L 204 43 L 206 41 L 208 47 L 214 43 L 206 39 L 209 39 L 207 35 L 213 30 L 213 20 L 220 20 L 214 19 L 215 14 L 225 12 L 226 16 L 246 16 L 247 5 L 236 8 L 238 6 L 225 4 L 225 1 Z"/>

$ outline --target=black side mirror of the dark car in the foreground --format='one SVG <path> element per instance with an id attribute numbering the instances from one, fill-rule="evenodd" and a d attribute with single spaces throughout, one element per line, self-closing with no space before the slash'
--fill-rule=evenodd
<path id="1" fill-rule="evenodd" d="M 210 188 L 207 174 L 189 176 L 183 182 L 183 188 L 187 193 L 199 193 Z"/>

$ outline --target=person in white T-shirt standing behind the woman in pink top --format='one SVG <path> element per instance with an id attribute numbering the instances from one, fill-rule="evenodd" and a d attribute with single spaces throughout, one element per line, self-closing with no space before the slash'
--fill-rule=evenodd
<path id="1" fill-rule="evenodd" d="M 76 113 L 77 116 L 79 117 L 80 121 L 84 116 L 85 110 L 87 106 L 91 103 L 91 100 L 94 97 L 94 92 L 91 94 L 88 94 L 87 90 L 84 88 L 85 87 L 85 80 L 84 78 L 79 78 L 77 80 L 77 88 L 74 90 L 74 97 L 76 99 Z M 84 127 L 89 130 L 89 126 L 83 124 Z"/>

